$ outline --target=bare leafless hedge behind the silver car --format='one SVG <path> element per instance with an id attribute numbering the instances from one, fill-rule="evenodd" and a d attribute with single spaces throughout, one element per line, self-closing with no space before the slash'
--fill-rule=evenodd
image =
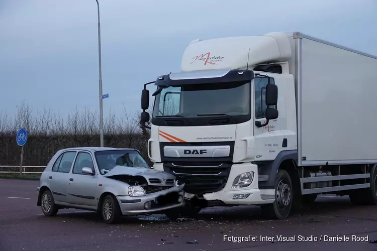
<path id="1" fill-rule="evenodd" d="M 0 165 L 19 165 L 21 148 L 16 134 L 20 128 L 28 131 L 24 147 L 25 166 L 45 166 L 57 150 L 69 147 L 100 146 L 99 112 L 87 107 L 75 109 L 64 119 L 50 108 L 32 112 L 22 101 L 12 116 L 0 111 Z M 135 148 L 150 163 L 146 142 L 149 130 L 139 123 L 140 112 L 130 114 L 123 105 L 122 112 L 104 112 L 105 147 Z"/>

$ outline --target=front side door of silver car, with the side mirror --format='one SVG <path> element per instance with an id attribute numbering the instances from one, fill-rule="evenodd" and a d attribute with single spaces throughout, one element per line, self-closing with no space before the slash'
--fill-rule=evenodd
<path id="1" fill-rule="evenodd" d="M 72 171 L 69 173 L 68 203 L 78 207 L 96 206 L 96 189 L 98 174 L 93 165 L 90 152 L 78 152 Z M 88 167 L 93 174 L 82 173 L 82 168 Z"/>

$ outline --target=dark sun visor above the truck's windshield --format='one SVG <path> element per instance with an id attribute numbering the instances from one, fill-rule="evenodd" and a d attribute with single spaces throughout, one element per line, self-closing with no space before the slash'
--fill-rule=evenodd
<path id="1" fill-rule="evenodd" d="M 251 81 L 254 79 L 252 70 L 208 70 L 195 72 L 172 73 L 159 76 L 155 85 L 174 86 L 186 84 L 207 84 Z"/>

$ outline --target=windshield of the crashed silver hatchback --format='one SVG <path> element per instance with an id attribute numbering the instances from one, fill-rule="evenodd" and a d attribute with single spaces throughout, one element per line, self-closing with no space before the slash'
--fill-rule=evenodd
<path id="1" fill-rule="evenodd" d="M 116 166 L 149 168 L 147 162 L 136 150 L 109 150 L 95 153 L 98 168 L 102 175 Z"/>

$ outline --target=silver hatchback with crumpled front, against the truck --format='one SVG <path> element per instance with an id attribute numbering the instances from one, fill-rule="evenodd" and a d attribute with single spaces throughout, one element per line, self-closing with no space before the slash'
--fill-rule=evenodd
<path id="1" fill-rule="evenodd" d="M 101 213 L 106 223 L 121 215 L 167 212 L 184 205 L 184 184 L 148 166 L 135 149 L 59 150 L 41 175 L 37 205 L 46 216 L 62 208 Z"/>

